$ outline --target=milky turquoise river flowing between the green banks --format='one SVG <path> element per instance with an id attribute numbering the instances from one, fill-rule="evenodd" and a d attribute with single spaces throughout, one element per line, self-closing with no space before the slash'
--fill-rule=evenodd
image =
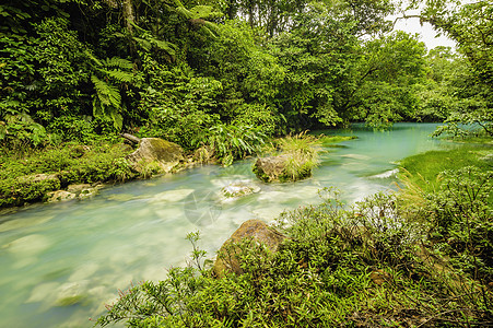
<path id="1" fill-rule="evenodd" d="M 446 147 L 432 124 L 363 126 L 326 134 L 356 136 L 327 147 L 312 178 L 266 185 L 254 159 L 230 167 L 204 165 L 175 175 L 101 190 L 92 200 L 32 206 L 0 216 L 0 327 L 92 327 L 118 289 L 163 280 L 185 265 L 187 233 L 200 231 L 210 257 L 246 220 L 272 221 L 284 210 L 318 202 L 334 186 L 348 202 L 392 188 L 396 161 Z M 222 187 L 256 184 L 260 191 L 222 201 Z"/>

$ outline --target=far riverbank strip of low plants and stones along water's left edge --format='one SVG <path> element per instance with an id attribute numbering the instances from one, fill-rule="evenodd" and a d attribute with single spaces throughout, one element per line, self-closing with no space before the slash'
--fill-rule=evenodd
<path id="1" fill-rule="evenodd" d="M 330 145 L 353 137 L 322 136 L 320 144 Z M 268 143 L 275 144 L 280 140 Z M 302 147 L 294 144 L 293 147 Z M 40 150 L 7 152 L 0 160 L 0 210 L 35 202 L 86 199 L 105 184 L 115 185 L 134 179 L 148 179 L 163 174 L 155 163 L 136 171 L 127 161 L 134 149 L 124 142 L 97 144 L 66 143 Z M 200 153 L 185 154 L 171 173 L 198 164 L 220 164 L 221 161 Z M 2 212 L 0 212 L 1 214 Z"/>

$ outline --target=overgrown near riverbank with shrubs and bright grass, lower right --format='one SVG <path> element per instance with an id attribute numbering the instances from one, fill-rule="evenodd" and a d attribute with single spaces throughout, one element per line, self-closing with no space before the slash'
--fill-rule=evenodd
<path id="1" fill-rule="evenodd" d="M 239 276 L 215 278 L 191 235 L 195 265 L 129 290 L 98 324 L 493 325 L 492 153 L 465 147 L 407 157 L 407 189 L 349 209 L 326 189 L 321 204 L 277 220 L 273 229 L 287 237 L 278 251 L 239 244 Z"/>

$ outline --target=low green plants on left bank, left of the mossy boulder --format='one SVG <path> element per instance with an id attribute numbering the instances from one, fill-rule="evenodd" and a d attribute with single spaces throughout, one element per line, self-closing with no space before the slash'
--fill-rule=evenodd
<path id="1" fill-rule="evenodd" d="M 42 201 L 46 194 L 70 184 L 125 181 L 137 176 L 125 160 L 124 144 L 66 143 L 24 153 L 5 152 L 0 160 L 0 208 Z M 38 179 L 36 174 L 56 175 Z"/>

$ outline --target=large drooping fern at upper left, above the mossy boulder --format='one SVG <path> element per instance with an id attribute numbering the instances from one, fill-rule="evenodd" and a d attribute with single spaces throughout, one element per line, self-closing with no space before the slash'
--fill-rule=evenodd
<path id="1" fill-rule="evenodd" d="M 120 87 L 132 82 L 133 65 L 118 57 L 98 60 L 89 51 L 86 54 L 94 63 L 94 73 L 91 75 L 96 91 L 93 99 L 93 115 L 109 118 L 115 129 L 120 130 L 124 125 L 121 113 L 125 109 Z"/>

